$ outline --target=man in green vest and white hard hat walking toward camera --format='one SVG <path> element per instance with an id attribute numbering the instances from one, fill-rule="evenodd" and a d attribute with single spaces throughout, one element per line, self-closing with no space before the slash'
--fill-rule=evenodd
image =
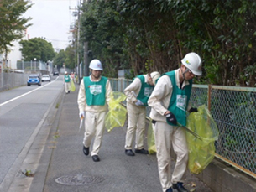
<path id="1" fill-rule="evenodd" d="M 98 156 L 102 145 L 104 122 L 107 104 L 110 101 L 112 88 L 107 77 L 102 76 L 100 60 L 91 60 L 89 65 L 91 75 L 81 80 L 78 92 L 79 117 L 85 117 L 85 134 L 83 139 L 83 153 L 90 153 L 94 162 L 100 161 Z M 94 138 L 94 143 L 91 143 Z"/>

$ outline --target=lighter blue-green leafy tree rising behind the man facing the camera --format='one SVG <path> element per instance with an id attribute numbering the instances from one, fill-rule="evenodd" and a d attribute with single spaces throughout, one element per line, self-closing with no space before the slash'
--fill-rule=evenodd
<path id="1" fill-rule="evenodd" d="M 85 3 L 81 15 L 81 42 L 89 42 L 93 58 L 102 61 L 104 75 L 117 77 L 123 60 L 123 29 L 115 1 Z M 124 56 L 123 56 L 124 55 Z"/>

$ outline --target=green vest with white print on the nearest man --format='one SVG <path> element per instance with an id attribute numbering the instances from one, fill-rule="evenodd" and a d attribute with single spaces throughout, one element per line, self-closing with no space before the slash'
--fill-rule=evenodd
<path id="1" fill-rule="evenodd" d="M 170 77 L 171 84 L 173 86 L 168 110 L 175 115 L 177 122 L 180 122 L 181 125 L 185 126 L 186 110 L 191 97 L 192 80 L 189 80 L 190 84 L 188 86 L 185 86 L 184 89 L 180 89 L 180 87 L 176 85 L 174 70 L 165 73 L 165 75 L 168 75 Z M 174 126 L 170 122 L 167 123 Z"/>

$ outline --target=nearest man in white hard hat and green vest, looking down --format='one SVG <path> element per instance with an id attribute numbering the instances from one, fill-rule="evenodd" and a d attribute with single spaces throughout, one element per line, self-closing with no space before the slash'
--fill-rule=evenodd
<path id="1" fill-rule="evenodd" d="M 185 138 L 186 112 L 197 112 L 189 104 L 192 79 L 201 76 L 201 57 L 196 53 L 186 54 L 181 66 L 162 75 L 149 97 L 149 117 L 154 122 L 154 140 L 158 159 L 159 179 L 163 192 L 188 191 L 183 186 L 188 162 Z M 176 163 L 171 174 L 171 148 L 176 154 Z"/>

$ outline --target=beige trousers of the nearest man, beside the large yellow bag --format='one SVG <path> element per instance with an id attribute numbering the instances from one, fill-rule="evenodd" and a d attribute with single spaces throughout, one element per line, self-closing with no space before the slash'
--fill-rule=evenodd
<path id="1" fill-rule="evenodd" d="M 170 126 L 166 122 L 156 122 L 154 125 L 154 139 L 158 159 L 159 179 L 163 192 L 165 192 L 172 184 L 183 181 L 188 162 L 185 130 L 182 127 Z M 172 148 L 176 154 L 176 163 L 171 176 L 170 153 Z"/>

